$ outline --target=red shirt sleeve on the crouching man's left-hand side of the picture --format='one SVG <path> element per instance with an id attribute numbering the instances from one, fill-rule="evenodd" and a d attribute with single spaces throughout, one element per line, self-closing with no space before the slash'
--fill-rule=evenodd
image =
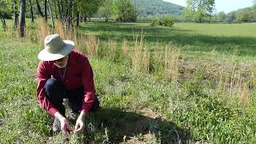
<path id="1" fill-rule="evenodd" d="M 48 98 L 46 98 L 46 92 L 44 90 L 44 86 L 47 82 L 47 80 L 50 78 L 49 69 L 46 69 L 46 62 L 39 62 L 38 65 L 38 86 L 37 86 L 37 96 L 38 96 L 38 102 L 40 106 L 47 110 L 50 115 L 54 115 L 57 112 L 57 109 L 54 108 L 53 104 L 49 101 Z"/>

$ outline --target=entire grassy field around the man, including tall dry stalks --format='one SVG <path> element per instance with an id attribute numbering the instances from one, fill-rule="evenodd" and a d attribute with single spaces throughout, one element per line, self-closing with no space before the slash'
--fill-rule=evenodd
<path id="1" fill-rule="evenodd" d="M 51 134 L 35 95 L 38 40 L 47 32 L 38 25 L 29 24 L 24 39 L 0 29 L 1 143 L 256 142 L 254 23 L 56 30 L 90 59 L 101 100 L 85 134 L 67 137 Z"/>

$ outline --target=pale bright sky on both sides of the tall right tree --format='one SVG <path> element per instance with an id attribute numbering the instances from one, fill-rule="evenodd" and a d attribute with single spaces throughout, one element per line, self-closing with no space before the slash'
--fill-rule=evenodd
<path id="1" fill-rule="evenodd" d="M 186 0 L 164 0 L 181 6 L 186 6 Z M 232 10 L 242 9 L 248 6 L 253 6 L 253 0 L 215 0 L 217 12 L 225 11 L 229 13 Z"/>

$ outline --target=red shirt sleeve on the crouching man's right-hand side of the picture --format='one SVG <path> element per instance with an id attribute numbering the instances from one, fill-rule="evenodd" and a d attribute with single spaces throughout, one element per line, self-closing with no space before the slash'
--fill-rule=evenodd
<path id="1" fill-rule="evenodd" d="M 94 74 L 88 58 L 83 57 L 82 61 L 82 83 L 84 86 L 82 111 L 87 113 L 90 107 L 93 106 L 95 99 Z"/>

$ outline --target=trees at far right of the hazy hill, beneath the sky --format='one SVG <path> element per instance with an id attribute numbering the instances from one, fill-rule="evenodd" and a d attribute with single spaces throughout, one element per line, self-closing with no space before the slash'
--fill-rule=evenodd
<path id="1" fill-rule="evenodd" d="M 256 1 L 255 1 L 256 2 Z M 215 0 L 186 0 L 183 10 L 184 20 L 195 22 L 256 22 L 256 5 L 231 11 L 216 13 Z"/>

